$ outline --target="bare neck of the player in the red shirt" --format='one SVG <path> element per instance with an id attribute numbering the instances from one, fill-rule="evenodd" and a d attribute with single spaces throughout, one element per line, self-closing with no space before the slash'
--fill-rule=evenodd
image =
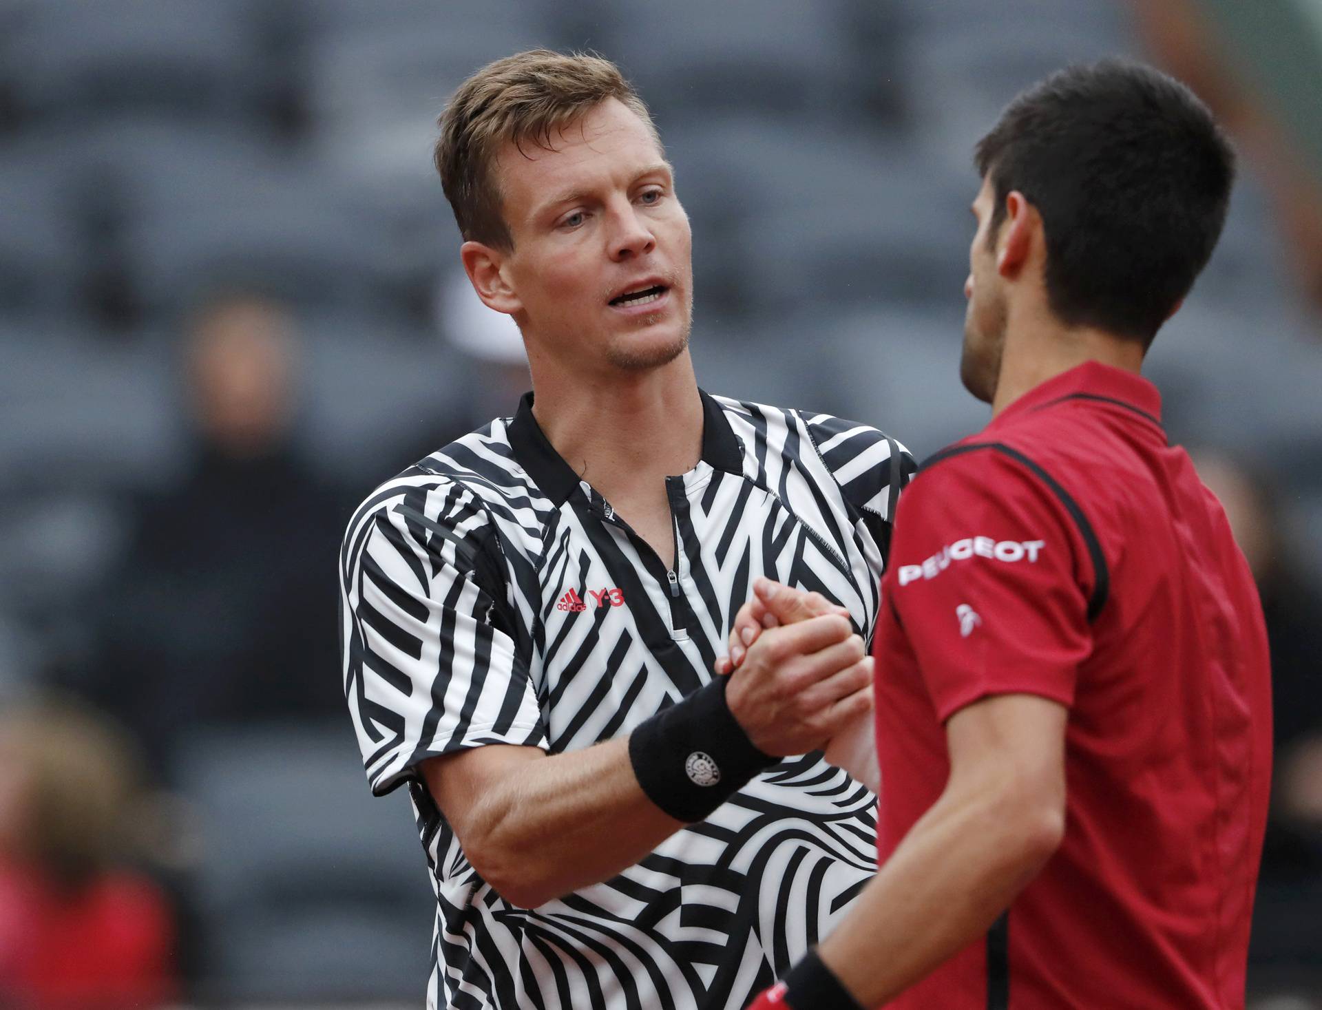
<path id="1" fill-rule="evenodd" d="M 1011 317 L 1006 323 L 1005 352 L 992 416 L 1025 393 L 1072 368 L 1096 361 L 1133 371 L 1142 369 L 1145 348 L 1137 340 L 1118 337 L 1093 327 L 1066 327 L 1042 316 Z"/>

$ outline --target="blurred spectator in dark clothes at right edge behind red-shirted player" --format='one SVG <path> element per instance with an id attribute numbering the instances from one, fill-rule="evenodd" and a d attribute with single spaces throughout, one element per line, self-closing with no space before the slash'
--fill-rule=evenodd
<path id="1" fill-rule="evenodd" d="M 1276 796 L 1263 879 L 1322 873 L 1322 595 L 1293 566 L 1272 485 L 1227 456 L 1195 455 L 1263 598 L 1272 644 Z"/>

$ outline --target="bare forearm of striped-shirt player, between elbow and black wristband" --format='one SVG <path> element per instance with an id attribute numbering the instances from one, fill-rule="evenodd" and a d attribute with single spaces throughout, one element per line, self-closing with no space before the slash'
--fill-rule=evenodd
<path id="1" fill-rule="evenodd" d="M 639 787 L 627 739 L 526 763 L 469 824 L 480 873 L 524 907 L 615 876 L 682 826 Z"/>

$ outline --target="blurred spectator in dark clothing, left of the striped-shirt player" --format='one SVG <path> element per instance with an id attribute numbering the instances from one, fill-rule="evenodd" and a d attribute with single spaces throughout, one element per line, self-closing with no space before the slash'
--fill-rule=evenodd
<path id="1" fill-rule="evenodd" d="M 276 304 L 206 304 L 188 340 L 182 481 L 136 506 L 81 685 L 159 768 L 201 724 L 338 713 L 337 500 L 291 442 L 299 360 Z"/>

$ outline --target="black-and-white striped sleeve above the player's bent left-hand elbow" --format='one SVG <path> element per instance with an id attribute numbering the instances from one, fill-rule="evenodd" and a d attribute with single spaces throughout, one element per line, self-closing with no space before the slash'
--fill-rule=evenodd
<path id="1" fill-rule="evenodd" d="M 492 530 L 471 493 L 411 488 L 360 512 L 341 554 L 341 661 L 373 793 L 419 761 L 492 743 L 546 748 L 529 657 L 479 574 Z"/>

